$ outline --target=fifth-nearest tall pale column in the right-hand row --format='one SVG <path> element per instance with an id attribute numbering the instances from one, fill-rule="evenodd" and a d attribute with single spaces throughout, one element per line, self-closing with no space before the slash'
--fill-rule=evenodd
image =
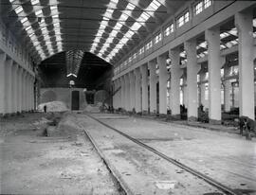
<path id="1" fill-rule="evenodd" d="M 158 56 L 159 66 L 159 114 L 167 114 L 167 80 L 166 56 Z"/>

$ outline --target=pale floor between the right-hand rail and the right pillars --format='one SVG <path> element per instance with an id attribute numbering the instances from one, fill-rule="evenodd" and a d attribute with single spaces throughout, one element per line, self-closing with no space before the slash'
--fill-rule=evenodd
<path id="1" fill-rule="evenodd" d="M 231 187 L 237 193 L 256 194 L 255 138 L 248 141 L 236 133 L 222 133 L 136 117 L 94 116 L 176 161 Z M 106 133 L 111 133 L 111 130 Z"/>

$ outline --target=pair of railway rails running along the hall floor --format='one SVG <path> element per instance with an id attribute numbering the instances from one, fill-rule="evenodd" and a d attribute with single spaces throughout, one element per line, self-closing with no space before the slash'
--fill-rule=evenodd
<path id="1" fill-rule="evenodd" d="M 139 145 L 140 147 L 148 150 L 148 151 L 152 151 L 154 152 L 157 156 L 161 157 L 162 159 L 168 161 L 169 163 L 173 164 L 174 166 L 178 167 L 178 168 L 182 168 L 188 172 L 190 172 L 192 175 L 204 180 L 205 182 L 207 182 L 208 184 L 210 184 L 210 186 L 214 186 L 216 188 L 218 188 L 220 191 L 222 191 L 223 193 L 225 194 L 228 194 L 228 195 L 242 195 L 243 193 L 240 193 L 240 192 L 237 192 L 235 190 L 233 190 L 232 188 L 230 188 L 229 186 L 225 186 L 223 184 L 221 184 L 220 182 L 210 178 L 209 176 L 207 176 L 206 174 L 202 173 L 202 172 L 199 172 L 197 171 L 196 169 L 194 168 L 190 168 L 178 161 L 176 161 L 174 158 L 171 158 L 167 155 L 165 155 L 164 153 L 160 152 L 160 151 L 156 151 L 154 148 L 142 143 L 141 141 L 137 140 L 136 138 L 126 134 L 126 133 L 122 133 L 121 131 L 119 131 L 118 129 L 102 122 L 100 119 L 92 116 L 92 115 L 88 115 L 86 114 L 88 117 L 96 120 L 97 122 L 101 123 L 101 125 L 105 126 L 106 128 L 108 129 L 111 129 L 112 131 L 116 132 L 116 133 L 119 133 L 120 135 L 126 137 L 127 139 L 133 141 L 134 143 L 136 143 L 137 145 Z M 97 149 L 98 152 L 100 152 L 101 156 L 103 155 L 103 153 L 101 152 L 100 149 L 98 149 L 97 147 L 97 144 L 95 143 L 95 141 L 93 140 L 93 138 L 90 136 L 89 133 L 87 133 L 86 130 L 84 130 L 84 133 L 89 137 L 89 139 L 91 140 L 91 142 L 93 143 L 93 145 L 95 146 L 95 148 Z M 105 159 L 104 156 L 102 156 L 103 159 Z M 107 162 L 105 162 L 106 164 L 108 164 Z M 112 168 L 110 168 L 112 169 Z M 114 174 L 114 176 L 117 178 L 117 180 L 119 180 L 119 178 Z M 120 186 L 122 186 L 121 182 L 120 183 Z M 132 194 L 129 190 L 129 187 L 127 186 L 122 186 L 122 188 L 124 189 L 124 191 L 126 191 L 127 194 Z"/>

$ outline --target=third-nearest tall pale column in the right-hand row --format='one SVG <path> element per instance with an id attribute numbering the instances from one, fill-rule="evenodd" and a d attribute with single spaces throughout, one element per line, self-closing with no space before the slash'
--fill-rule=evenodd
<path id="1" fill-rule="evenodd" d="M 196 40 L 187 41 L 184 44 L 187 52 L 187 96 L 188 96 L 188 120 L 197 118 L 197 72 L 200 66 L 196 59 Z"/>

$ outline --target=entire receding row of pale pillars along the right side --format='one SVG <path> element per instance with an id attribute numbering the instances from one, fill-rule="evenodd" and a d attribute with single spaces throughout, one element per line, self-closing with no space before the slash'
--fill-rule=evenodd
<path id="1" fill-rule="evenodd" d="M 239 95 L 240 115 L 254 118 L 254 45 L 252 11 L 237 13 L 235 25 L 238 29 L 239 53 Z M 250 32 L 250 33 L 248 33 Z M 205 31 L 208 43 L 208 70 L 209 70 L 209 117 L 211 122 L 221 120 L 221 68 L 225 58 L 220 53 L 220 27 L 212 27 Z M 184 43 L 187 53 L 187 86 L 183 96 L 187 99 L 188 119 L 195 119 L 198 115 L 197 74 L 201 65 L 197 63 L 196 39 Z M 180 77 L 183 70 L 180 68 L 179 48 L 169 51 L 171 59 L 171 110 L 172 115 L 180 114 Z M 166 60 L 167 55 L 143 64 L 114 82 L 121 86 L 119 101 L 115 107 L 122 107 L 127 111 L 156 112 L 156 83 L 159 83 L 159 114 L 167 114 L 167 80 L 169 77 Z M 156 64 L 159 67 L 158 76 L 155 73 Z M 148 74 L 149 71 L 149 74 Z M 149 76 L 149 77 L 148 77 Z M 204 84 L 205 85 L 205 84 Z M 201 87 L 201 95 L 205 94 L 205 86 Z M 149 94 L 148 94 L 149 86 Z M 225 110 L 229 111 L 230 82 L 225 80 Z M 149 96 L 149 98 L 148 98 Z M 203 96 L 203 95 L 202 95 Z M 184 97 L 185 98 L 185 97 Z M 201 97 L 205 98 L 205 97 Z"/>

